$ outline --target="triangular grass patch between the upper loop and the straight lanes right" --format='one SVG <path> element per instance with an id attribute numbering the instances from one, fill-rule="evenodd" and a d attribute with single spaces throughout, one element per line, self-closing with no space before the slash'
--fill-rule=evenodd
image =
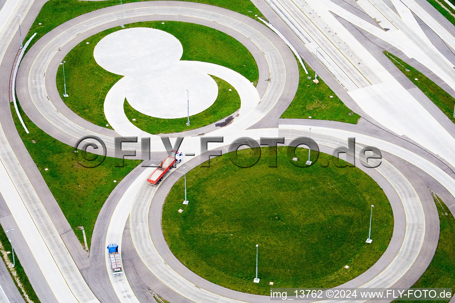
<path id="1" fill-rule="evenodd" d="M 356 124 L 360 116 L 344 105 L 322 79 L 318 78 L 319 83 L 314 83 L 314 71 L 308 65 L 305 64 L 305 66 L 308 75 L 303 70 L 302 65 L 298 64 L 300 77 L 297 93 L 281 118 L 308 119 L 311 116 L 311 119 Z M 307 77 L 313 78 L 308 79 Z"/>

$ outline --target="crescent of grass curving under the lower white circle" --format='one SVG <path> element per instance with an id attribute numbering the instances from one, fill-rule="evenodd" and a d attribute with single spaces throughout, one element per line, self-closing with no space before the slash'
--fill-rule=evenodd
<path id="1" fill-rule="evenodd" d="M 218 97 L 208 109 L 199 114 L 190 116 L 190 126 L 187 126 L 187 118 L 179 119 L 160 119 L 150 117 L 146 114 L 133 109 L 125 100 L 124 110 L 126 117 L 131 123 L 149 134 L 169 134 L 178 133 L 185 130 L 197 129 L 204 125 L 212 124 L 218 120 L 229 116 L 240 108 L 240 96 L 237 91 L 223 79 L 212 76 L 218 84 Z M 229 89 L 232 89 L 229 91 Z M 132 121 L 132 119 L 136 121 Z"/>

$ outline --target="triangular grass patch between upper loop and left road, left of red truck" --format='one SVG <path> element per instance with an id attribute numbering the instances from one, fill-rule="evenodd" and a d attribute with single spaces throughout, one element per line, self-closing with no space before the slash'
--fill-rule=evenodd
<path id="1" fill-rule="evenodd" d="M 11 111 L 15 112 L 12 103 Z M 115 186 L 141 160 L 125 159 L 125 167 L 116 167 L 121 165 L 121 159 L 106 157 L 98 167 L 85 168 L 78 163 L 74 147 L 61 143 L 39 129 L 22 109 L 20 114 L 30 134 L 25 133 L 16 114 L 13 114 L 13 118 L 25 147 L 81 243 L 84 243 L 82 231 L 77 227 L 84 226 L 90 248 L 91 235 L 101 207 Z M 87 158 L 95 156 L 87 153 Z M 114 183 L 114 180 L 117 182 Z"/>

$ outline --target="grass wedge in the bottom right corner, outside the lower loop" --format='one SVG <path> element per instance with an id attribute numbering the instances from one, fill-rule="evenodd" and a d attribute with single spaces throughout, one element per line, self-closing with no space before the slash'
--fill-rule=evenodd
<path id="1" fill-rule="evenodd" d="M 452 288 L 455 290 L 455 219 L 442 200 L 434 198 L 439 213 L 440 234 L 435 256 L 413 288 Z M 441 300 L 439 302 L 449 302 Z M 394 301 L 402 302 L 402 301 Z M 435 301 L 406 301 L 431 303 Z"/>

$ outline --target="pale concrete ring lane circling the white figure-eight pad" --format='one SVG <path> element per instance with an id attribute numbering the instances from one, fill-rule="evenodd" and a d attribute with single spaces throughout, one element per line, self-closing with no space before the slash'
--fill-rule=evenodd
<path id="1" fill-rule="evenodd" d="M 57 27 L 33 45 L 20 65 L 16 80 L 17 94 L 25 113 L 48 134 L 69 145 L 74 145 L 83 136 L 96 135 L 106 143 L 108 155 L 113 155 L 113 137 L 118 134 L 77 117 L 62 103 L 56 91 L 55 73 L 66 51 L 86 37 L 116 26 L 114 23 L 118 23 L 120 11 L 118 7 L 108 7 L 97 10 L 96 14 L 89 13 L 81 17 L 84 18 L 77 17 Z M 234 119 L 223 131 L 248 128 L 262 119 L 280 98 L 289 98 L 295 94 L 298 70 L 292 52 L 267 27 L 251 18 L 210 5 L 172 1 L 124 5 L 123 18 L 126 23 L 166 19 L 212 25 L 241 42 L 251 41 L 245 45 L 261 64 L 259 89 L 264 94 L 253 110 Z M 265 60 L 260 58 L 260 53 Z M 270 79 L 266 87 L 263 86 L 266 82 L 263 79 Z M 152 146 L 155 143 L 161 145 L 158 136 L 152 136 Z"/>

